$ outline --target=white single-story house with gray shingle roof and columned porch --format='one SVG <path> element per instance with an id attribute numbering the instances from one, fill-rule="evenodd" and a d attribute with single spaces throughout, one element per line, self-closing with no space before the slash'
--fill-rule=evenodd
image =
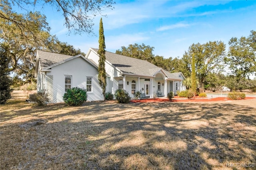
<path id="1" fill-rule="evenodd" d="M 65 91 L 72 87 L 85 88 L 88 101 L 104 100 L 98 83 L 98 49 L 90 48 L 86 54 L 69 56 L 37 51 L 37 91 L 48 92 L 52 103 L 63 102 Z M 166 97 L 168 92 L 185 90 L 181 72 L 170 73 L 152 63 L 106 51 L 106 92 L 124 89 L 133 98 L 136 91 L 148 98 L 154 94 Z"/>

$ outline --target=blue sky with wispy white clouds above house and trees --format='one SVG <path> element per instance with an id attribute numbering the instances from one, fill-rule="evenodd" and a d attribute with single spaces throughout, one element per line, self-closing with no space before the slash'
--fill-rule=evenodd
<path id="1" fill-rule="evenodd" d="M 94 18 L 96 36 L 68 35 L 61 14 L 52 8 L 41 10 L 46 15 L 51 34 L 57 35 L 86 53 L 89 47 L 98 48 L 100 17 L 103 20 L 106 50 L 114 52 L 129 44 L 154 47 L 153 54 L 165 58 L 182 57 L 192 43 L 223 41 L 228 49 L 232 37 L 249 36 L 256 30 L 256 1 L 161 1 L 116 0 L 113 10 Z"/>

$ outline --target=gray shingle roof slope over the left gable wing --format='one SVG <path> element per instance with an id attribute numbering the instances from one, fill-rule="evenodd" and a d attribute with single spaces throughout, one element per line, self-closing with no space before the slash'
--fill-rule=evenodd
<path id="1" fill-rule="evenodd" d="M 37 53 L 39 56 L 39 62 L 40 62 L 41 68 L 51 66 L 52 64 L 56 64 L 70 57 L 73 57 L 71 55 L 63 55 L 63 54 L 51 53 L 51 52 L 46 52 L 41 50 L 38 50 Z"/>

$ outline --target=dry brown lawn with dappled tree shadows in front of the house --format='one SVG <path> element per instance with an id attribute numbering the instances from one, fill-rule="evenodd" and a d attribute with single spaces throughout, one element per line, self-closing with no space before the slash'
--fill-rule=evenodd
<path id="1" fill-rule="evenodd" d="M 1 170 L 218 170 L 256 163 L 255 99 L 38 107 L 13 95 L 1 106 Z M 34 121 L 45 124 L 20 127 Z"/>

